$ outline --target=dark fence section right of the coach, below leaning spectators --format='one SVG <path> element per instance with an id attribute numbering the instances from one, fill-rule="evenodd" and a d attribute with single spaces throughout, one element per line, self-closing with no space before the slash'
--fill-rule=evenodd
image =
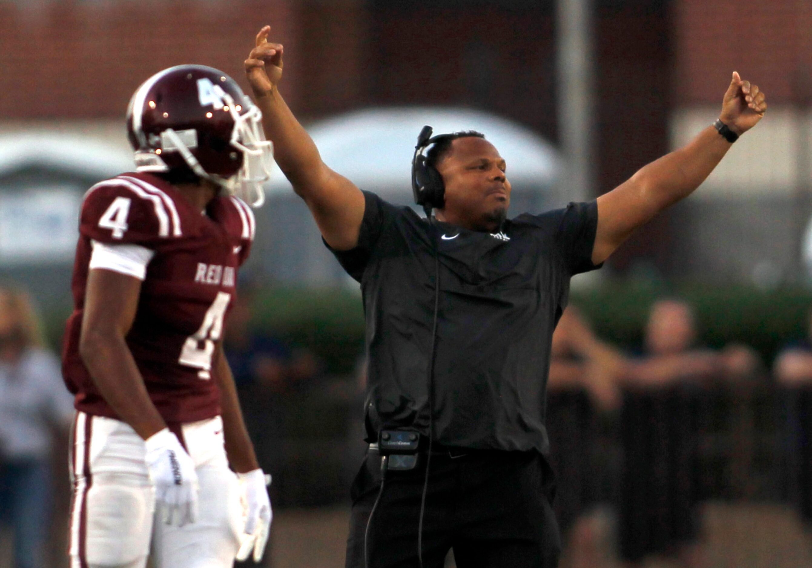
<path id="1" fill-rule="evenodd" d="M 812 386 L 627 389 L 611 415 L 570 389 L 552 392 L 548 409 L 562 528 L 611 504 L 625 560 L 697 540 L 700 501 L 782 501 L 812 521 Z"/>

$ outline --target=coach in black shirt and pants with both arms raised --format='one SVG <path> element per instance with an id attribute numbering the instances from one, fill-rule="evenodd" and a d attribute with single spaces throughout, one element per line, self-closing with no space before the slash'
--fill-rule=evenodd
<path id="1" fill-rule="evenodd" d="M 435 568 L 450 548 L 460 568 L 556 566 L 544 414 L 569 280 L 689 196 L 762 118 L 764 93 L 733 73 L 719 121 L 684 148 L 596 201 L 513 219 L 497 149 L 476 132 L 444 136 L 426 144 L 418 180 L 418 192 L 438 191 L 427 222 L 322 162 L 279 94 L 283 46 L 269 32 L 245 62 L 266 136 L 363 290 L 371 445 L 352 487 L 347 566 Z M 416 463 L 382 451 L 398 432 Z"/>

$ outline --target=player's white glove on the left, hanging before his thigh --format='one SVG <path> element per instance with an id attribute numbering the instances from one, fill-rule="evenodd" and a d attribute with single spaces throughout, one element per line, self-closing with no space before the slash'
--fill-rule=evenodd
<path id="1" fill-rule="evenodd" d="M 166 524 L 183 527 L 197 519 L 197 473 L 178 437 L 164 428 L 145 441 L 149 479 L 155 486 L 155 505 Z"/>

